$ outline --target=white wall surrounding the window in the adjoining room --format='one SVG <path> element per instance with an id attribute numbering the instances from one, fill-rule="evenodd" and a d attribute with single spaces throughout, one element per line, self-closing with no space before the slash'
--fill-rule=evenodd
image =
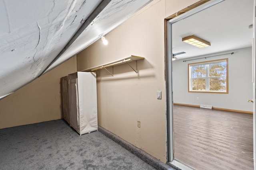
<path id="1" fill-rule="evenodd" d="M 224 109 L 240 111 L 252 111 L 252 48 L 236 49 L 222 53 L 215 53 L 196 58 L 208 57 L 225 53 L 233 55 L 222 55 L 207 59 L 194 61 L 173 61 L 173 99 L 174 103 L 191 105 L 211 105 Z M 201 61 L 228 58 L 228 94 L 195 93 L 188 92 L 188 64 Z M 199 97 L 199 100 L 197 100 Z"/>

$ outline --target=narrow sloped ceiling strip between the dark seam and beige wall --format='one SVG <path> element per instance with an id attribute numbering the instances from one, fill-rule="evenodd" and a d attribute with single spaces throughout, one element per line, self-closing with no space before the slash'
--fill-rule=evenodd
<path id="1" fill-rule="evenodd" d="M 112 0 L 48 70 L 106 35 L 150 1 L 152 0 Z"/>

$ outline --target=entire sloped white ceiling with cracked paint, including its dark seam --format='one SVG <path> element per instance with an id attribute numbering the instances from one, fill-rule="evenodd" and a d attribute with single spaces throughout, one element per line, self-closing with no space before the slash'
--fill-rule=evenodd
<path id="1" fill-rule="evenodd" d="M 0 98 L 85 49 L 152 0 L 0 0 Z"/>

